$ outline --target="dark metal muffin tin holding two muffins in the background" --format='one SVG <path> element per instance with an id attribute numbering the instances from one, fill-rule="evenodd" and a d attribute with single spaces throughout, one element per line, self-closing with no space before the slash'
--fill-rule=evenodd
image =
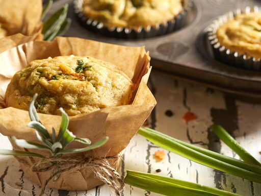
<path id="1" fill-rule="evenodd" d="M 105 37 L 86 30 L 77 21 L 70 0 L 56 1 L 53 7 L 65 3 L 70 5 L 69 17 L 72 18 L 66 36 L 128 46 L 145 45 L 152 57 L 154 72 L 221 89 L 240 97 L 261 100 L 261 72 L 234 68 L 218 62 L 207 41 L 208 27 L 215 19 L 236 9 L 259 7 L 261 2 L 258 0 L 192 0 L 193 5 L 185 27 L 167 35 L 135 40 Z"/>

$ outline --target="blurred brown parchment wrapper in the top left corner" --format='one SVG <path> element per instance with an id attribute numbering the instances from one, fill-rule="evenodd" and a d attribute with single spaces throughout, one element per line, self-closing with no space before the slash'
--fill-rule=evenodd
<path id="1" fill-rule="evenodd" d="M 8 36 L 21 33 L 42 39 L 41 0 L 0 0 L 0 23 Z"/>

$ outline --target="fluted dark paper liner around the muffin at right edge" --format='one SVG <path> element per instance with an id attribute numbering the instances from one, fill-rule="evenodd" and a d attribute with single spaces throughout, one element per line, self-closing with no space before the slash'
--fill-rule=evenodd
<path id="1" fill-rule="evenodd" d="M 210 43 L 211 48 L 214 53 L 216 60 L 225 63 L 227 65 L 248 69 L 261 71 L 261 59 L 255 59 L 254 57 L 247 57 L 246 55 L 239 55 L 236 51 L 230 51 L 225 46 L 221 45 L 216 36 L 218 28 L 225 23 L 228 19 L 232 19 L 237 15 L 243 13 L 257 13 L 260 12 L 260 7 L 246 7 L 245 9 L 237 9 L 235 11 L 228 12 L 227 14 L 220 16 L 218 19 L 214 20 L 213 23 L 207 29 L 207 40 Z"/>

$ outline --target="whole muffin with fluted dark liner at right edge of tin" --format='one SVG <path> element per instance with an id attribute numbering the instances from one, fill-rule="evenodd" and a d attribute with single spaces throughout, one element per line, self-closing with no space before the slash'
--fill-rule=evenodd
<path id="1" fill-rule="evenodd" d="M 208 28 L 208 41 L 218 61 L 261 70 L 261 12 L 258 7 L 229 12 Z"/>

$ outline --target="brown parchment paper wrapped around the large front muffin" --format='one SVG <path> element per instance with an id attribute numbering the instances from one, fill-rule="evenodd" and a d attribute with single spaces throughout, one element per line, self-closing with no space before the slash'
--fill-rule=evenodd
<path id="1" fill-rule="evenodd" d="M 1 47 L 1 46 L 0 46 Z M 88 137 L 93 143 L 109 136 L 109 141 L 98 149 L 82 154 L 94 157 L 116 156 L 125 149 L 129 140 L 136 134 L 145 119 L 149 116 L 156 101 L 146 83 L 150 73 L 150 57 L 144 47 L 127 47 L 108 43 L 96 42 L 80 38 L 57 37 L 52 42 L 31 41 L 14 47 L 0 54 L 0 96 L 5 95 L 7 84 L 16 71 L 25 67 L 30 61 L 60 55 L 89 55 L 94 58 L 115 64 L 118 69 L 137 84 L 131 105 L 108 107 L 90 114 L 70 116 L 69 130 L 77 137 Z M 16 108 L 0 109 L 0 132 L 6 136 L 16 136 L 19 139 L 37 142 L 35 130 L 27 128 L 30 122 L 28 111 Z M 54 127 L 59 130 L 61 116 L 39 114 L 42 124 L 48 131 Z M 12 143 L 13 144 L 13 143 Z M 83 148 L 85 145 L 72 142 L 70 148 Z M 13 144 L 15 150 L 18 148 Z M 31 150 L 44 156 L 49 156 L 47 151 Z M 66 156 L 74 156 L 72 154 Z M 32 159 L 24 157 L 32 163 Z M 38 158 L 34 158 L 38 160 Z M 117 160 L 110 163 L 116 166 Z M 21 164 L 25 176 L 37 184 L 43 184 L 50 176 L 50 172 L 33 173 L 28 167 Z M 102 184 L 94 178 L 90 168 L 70 170 L 62 174 L 56 181 L 51 181 L 48 187 L 66 190 L 88 190 Z"/>

